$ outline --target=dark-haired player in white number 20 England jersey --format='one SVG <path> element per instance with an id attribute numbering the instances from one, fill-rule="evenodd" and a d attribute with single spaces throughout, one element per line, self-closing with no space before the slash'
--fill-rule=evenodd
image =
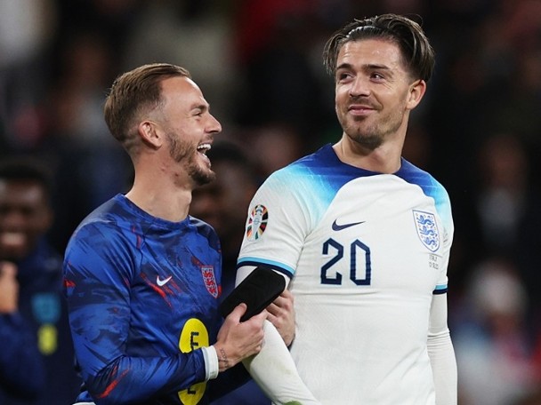
<path id="1" fill-rule="evenodd" d="M 336 31 L 324 59 L 342 139 L 271 174 L 254 195 L 237 282 L 254 266 L 284 274 L 295 296 L 290 353 L 322 404 L 454 405 L 450 203 L 401 157 L 432 46 L 419 24 L 385 14 Z M 280 385 L 294 371 L 271 325 L 265 333 L 245 365 Z"/>

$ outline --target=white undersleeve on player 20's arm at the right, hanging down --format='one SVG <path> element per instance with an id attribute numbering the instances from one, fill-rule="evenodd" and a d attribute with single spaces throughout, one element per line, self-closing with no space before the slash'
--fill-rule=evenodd
<path id="1" fill-rule="evenodd" d="M 447 325 L 446 294 L 434 295 L 432 298 L 427 346 L 436 389 L 436 404 L 456 405 L 456 357 Z"/>

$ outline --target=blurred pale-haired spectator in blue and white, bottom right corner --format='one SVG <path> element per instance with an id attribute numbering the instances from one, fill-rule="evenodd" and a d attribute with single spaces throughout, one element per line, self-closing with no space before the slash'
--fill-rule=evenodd
<path id="1" fill-rule="evenodd" d="M 524 328 L 526 291 L 513 263 L 483 262 L 453 328 L 462 405 L 509 405 L 539 384 Z"/>

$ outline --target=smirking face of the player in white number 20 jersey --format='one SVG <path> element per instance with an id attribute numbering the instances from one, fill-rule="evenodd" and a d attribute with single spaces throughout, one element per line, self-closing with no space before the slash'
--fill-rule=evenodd
<path id="1" fill-rule="evenodd" d="M 345 135 L 374 150 L 387 139 L 404 137 L 410 110 L 425 83 L 409 75 L 399 46 L 364 39 L 343 45 L 336 60 L 335 109 Z"/>

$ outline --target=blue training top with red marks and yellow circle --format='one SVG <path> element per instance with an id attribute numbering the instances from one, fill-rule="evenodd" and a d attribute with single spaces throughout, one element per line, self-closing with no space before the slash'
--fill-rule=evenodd
<path id="1" fill-rule="evenodd" d="M 206 403 L 201 346 L 221 324 L 222 258 L 214 229 L 150 216 L 117 195 L 77 227 L 64 284 L 78 401 Z"/>

